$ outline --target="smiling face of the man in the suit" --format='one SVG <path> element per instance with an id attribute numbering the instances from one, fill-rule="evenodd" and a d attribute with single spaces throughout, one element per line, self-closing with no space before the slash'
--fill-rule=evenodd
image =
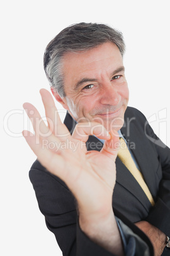
<path id="1" fill-rule="evenodd" d="M 104 43 L 63 57 L 64 107 L 77 122 L 95 121 L 121 129 L 129 90 L 119 48 Z"/>

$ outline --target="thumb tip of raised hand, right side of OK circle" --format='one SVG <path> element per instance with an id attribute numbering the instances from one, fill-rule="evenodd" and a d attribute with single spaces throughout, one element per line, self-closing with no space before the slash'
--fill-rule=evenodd
<path id="1" fill-rule="evenodd" d="M 108 157 L 111 157 L 115 160 L 120 147 L 119 134 L 115 130 L 112 130 L 109 133 L 110 139 L 105 141 L 103 148 L 101 149 L 101 153 L 106 154 Z"/>

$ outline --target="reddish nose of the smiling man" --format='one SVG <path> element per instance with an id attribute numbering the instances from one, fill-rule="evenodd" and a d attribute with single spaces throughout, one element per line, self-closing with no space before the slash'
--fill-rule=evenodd
<path id="1" fill-rule="evenodd" d="M 119 94 L 119 90 L 115 88 L 112 83 L 105 84 L 100 92 L 100 103 L 116 106 L 121 101 L 121 95 Z"/>

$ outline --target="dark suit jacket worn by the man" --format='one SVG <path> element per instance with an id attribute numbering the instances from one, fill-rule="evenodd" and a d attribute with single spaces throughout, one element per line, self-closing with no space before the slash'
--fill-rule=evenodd
<path id="1" fill-rule="evenodd" d="M 68 113 L 65 125 L 72 133 L 75 122 Z M 151 206 L 136 180 L 117 158 L 117 179 L 113 196 L 115 214 L 134 232 L 143 236 L 143 239 L 146 239 L 143 233 L 127 219 L 131 222 L 147 220 L 169 236 L 170 150 L 155 136 L 140 111 L 134 108 L 126 110 L 121 131 L 134 153 L 156 204 Z M 97 138 L 89 136 L 88 150 L 101 150 L 102 146 Z M 99 254 L 99 247 L 91 243 L 79 229 L 74 196 L 62 180 L 46 171 L 37 160 L 30 169 L 30 180 L 36 191 L 39 208 L 46 218 L 46 225 L 55 234 L 63 255 L 110 255 L 102 248 Z M 85 245 L 88 245 L 88 254 L 83 254 L 87 250 Z"/>

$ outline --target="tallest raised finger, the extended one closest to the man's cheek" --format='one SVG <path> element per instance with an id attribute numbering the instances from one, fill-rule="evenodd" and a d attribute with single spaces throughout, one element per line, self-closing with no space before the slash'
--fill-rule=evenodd
<path id="1" fill-rule="evenodd" d="M 65 139 L 70 136 L 70 132 L 67 127 L 60 120 L 58 110 L 56 109 L 55 102 L 50 92 L 46 89 L 41 89 L 40 94 L 42 97 L 42 103 L 44 104 L 46 119 L 48 127 L 55 136 L 59 136 L 61 139 Z"/>

